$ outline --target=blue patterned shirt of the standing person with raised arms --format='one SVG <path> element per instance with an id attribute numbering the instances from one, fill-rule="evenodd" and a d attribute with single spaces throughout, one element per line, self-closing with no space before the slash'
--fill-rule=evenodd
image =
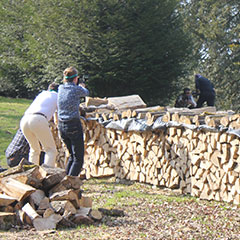
<path id="1" fill-rule="evenodd" d="M 89 91 L 73 82 L 62 84 L 58 88 L 58 119 L 69 121 L 80 118 L 79 105 L 81 97 L 89 95 Z"/>

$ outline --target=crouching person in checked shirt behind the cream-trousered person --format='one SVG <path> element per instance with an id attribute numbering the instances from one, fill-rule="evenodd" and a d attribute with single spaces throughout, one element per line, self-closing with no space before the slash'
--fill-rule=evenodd
<path id="1" fill-rule="evenodd" d="M 17 130 L 14 138 L 12 139 L 11 143 L 8 145 L 5 156 L 7 159 L 7 164 L 9 167 L 17 166 L 21 160 L 24 159 L 25 164 L 31 164 L 28 161 L 29 156 L 29 144 L 26 138 L 24 137 L 21 128 Z M 40 164 L 44 161 L 44 152 L 40 154 Z"/>

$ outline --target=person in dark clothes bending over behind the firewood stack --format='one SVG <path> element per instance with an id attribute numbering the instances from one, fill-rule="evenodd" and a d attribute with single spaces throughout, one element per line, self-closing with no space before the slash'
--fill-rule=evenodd
<path id="1" fill-rule="evenodd" d="M 208 106 L 214 106 L 215 90 L 212 82 L 200 74 L 196 74 L 195 86 L 196 92 L 199 94 L 197 108 L 202 107 L 204 102 L 207 102 Z"/>

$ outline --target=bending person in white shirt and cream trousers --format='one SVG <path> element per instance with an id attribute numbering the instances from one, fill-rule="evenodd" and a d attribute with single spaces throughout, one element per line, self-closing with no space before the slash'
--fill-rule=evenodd
<path id="1" fill-rule="evenodd" d="M 30 145 L 29 162 L 39 165 L 41 146 L 45 152 L 44 164 L 54 167 L 57 149 L 49 121 L 57 110 L 58 84 L 51 83 L 34 99 L 21 119 L 20 127 Z M 40 146 L 41 144 L 41 146 Z"/>

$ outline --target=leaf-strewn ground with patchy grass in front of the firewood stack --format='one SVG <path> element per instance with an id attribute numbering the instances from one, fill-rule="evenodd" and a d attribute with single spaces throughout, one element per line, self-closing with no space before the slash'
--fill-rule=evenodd
<path id="1" fill-rule="evenodd" d="M 104 216 L 101 222 L 74 229 L 13 228 L 0 232 L 0 239 L 240 239 L 239 205 L 115 178 L 85 180 L 82 188 L 84 196 L 93 198 L 93 209 L 121 209 L 125 216 Z"/>

